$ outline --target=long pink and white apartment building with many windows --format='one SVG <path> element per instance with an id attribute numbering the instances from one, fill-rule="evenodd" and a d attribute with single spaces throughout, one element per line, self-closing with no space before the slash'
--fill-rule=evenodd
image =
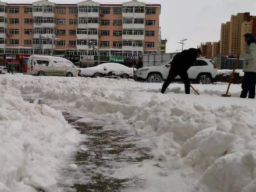
<path id="1" fill-rule="evenodd" d="M 125 56 L 159 52 L 161 5 L 91 0 L 0 2 L 0 54 Z M 95 45 L 95 50 L 90 44 Z M 98 51 L 97 51 L 98 49 Z"/>

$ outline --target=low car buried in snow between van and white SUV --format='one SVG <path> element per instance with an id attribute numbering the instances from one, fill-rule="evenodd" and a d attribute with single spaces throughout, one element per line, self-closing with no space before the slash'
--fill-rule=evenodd
<path id="1" fill-rule="evenodd" d="M 102 63 L 95 67 L 81 68 L 80 76 L 83 77 L 133 77 L 133 68 L 119 63 Z M 136 70 L 136 69 L 134 69 Z"/>

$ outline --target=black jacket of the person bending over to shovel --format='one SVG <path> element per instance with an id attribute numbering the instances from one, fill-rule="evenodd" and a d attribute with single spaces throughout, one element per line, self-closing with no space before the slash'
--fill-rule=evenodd
<path id="1" fill-rule="evenodd" d="M 172 60 L 172 68 L 179 71 L 187 71 L 197 60 L 197 49 L 190 48 L 175 55 Z"/>

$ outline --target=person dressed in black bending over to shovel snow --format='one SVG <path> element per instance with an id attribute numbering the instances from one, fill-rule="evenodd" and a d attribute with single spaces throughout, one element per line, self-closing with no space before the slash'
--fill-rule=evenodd
<path id="1" fill-rule="evenodd" d="M 178 75 L 182 78 L 185 86 L 185 93 L 190 94 L 190 82 L 187 70 L 193 65 L 197 58 L 202 54 L 201 49 L 190 48 L 175 55 L 165 83 L 163 83 L 161 93 L 165 93 L 167 87 Z"/>

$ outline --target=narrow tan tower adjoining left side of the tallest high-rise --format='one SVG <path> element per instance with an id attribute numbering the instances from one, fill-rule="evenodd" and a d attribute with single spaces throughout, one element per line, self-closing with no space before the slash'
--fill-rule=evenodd
<path id="1" fill-rule="evenodd" d="M 229 55 L 229 31 L 230 22 L 221 24 L 220 54 Z"/>

